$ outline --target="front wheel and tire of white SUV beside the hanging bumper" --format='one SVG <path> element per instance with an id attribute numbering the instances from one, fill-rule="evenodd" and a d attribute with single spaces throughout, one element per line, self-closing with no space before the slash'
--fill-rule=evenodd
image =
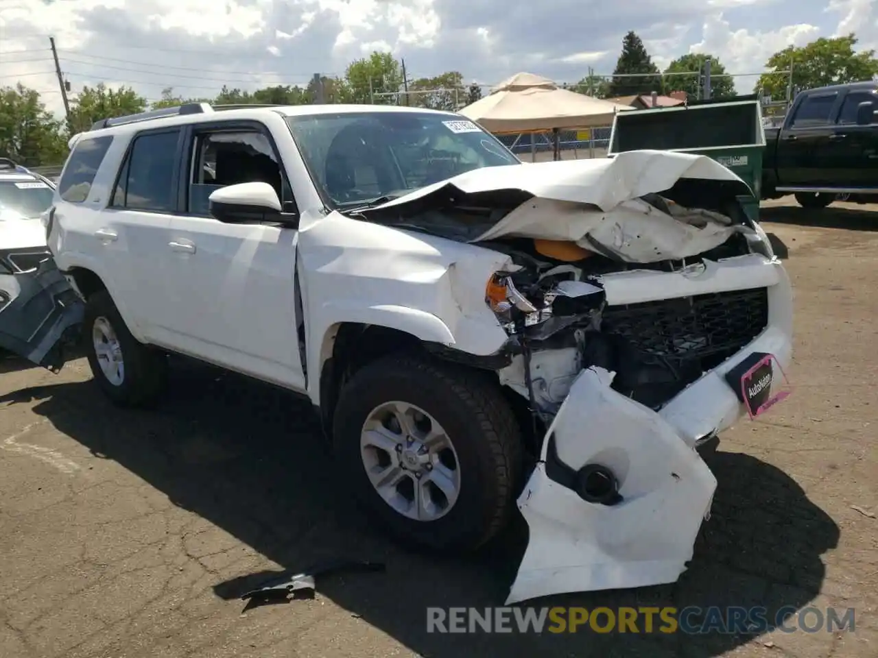
<path id="1" fill-rule="evenodd" d="M 335 408 L 342 476 L 397 540 L 470 552 L 505 526 L 522 477 L 522 435 L 486 375 L 408 355 L 375 361 Z"/>

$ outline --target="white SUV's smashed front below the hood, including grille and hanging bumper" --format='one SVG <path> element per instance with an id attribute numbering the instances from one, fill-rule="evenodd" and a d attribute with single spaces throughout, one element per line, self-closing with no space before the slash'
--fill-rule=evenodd
<path id="1" fill-rule="evenodd" d="M 514 354 L 500 383 L 545 428 L 507 603 L 674 582 L 716 490 L 696 448 L 785 395 L 791 293 L 767 243 L 735 230 L 703 254 L 651 262 L 612 245 L 491 245 L 518 266 L 486 290 Z"/>

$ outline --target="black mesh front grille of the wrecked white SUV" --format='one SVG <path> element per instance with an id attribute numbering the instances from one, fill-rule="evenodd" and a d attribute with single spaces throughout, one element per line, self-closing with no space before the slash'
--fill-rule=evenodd
<path id="1" fill-rule="evenodd" d="M 703 371 L 738 352 L 767 324 L 768 290 L 759 288 L 608 306 L 601 329 L 645 362 Z"/>

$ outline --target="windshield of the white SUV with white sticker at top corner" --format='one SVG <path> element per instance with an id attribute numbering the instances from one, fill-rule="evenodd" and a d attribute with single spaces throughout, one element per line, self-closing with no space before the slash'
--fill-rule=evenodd
<path id="1" fill-rule="evenodd" d="M 521 164 L 492 134 L 454 114 L 339 112 L 287 123 L 324 201 L 339 209 L 401 197 L 471 169 Z"/>

